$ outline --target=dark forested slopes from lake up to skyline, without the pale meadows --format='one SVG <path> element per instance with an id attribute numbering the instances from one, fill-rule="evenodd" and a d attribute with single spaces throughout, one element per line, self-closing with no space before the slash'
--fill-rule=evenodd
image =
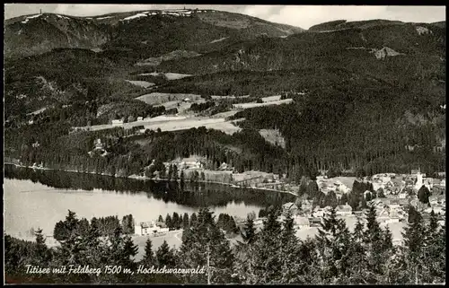
<path id="1" fill-rule="evenodd" d="M 30 164 L 92 167 L 120 171 L 118 175 L 144 170 L 155 158 L 167 161 L 192 152 L 213 162 L 231 162 L 237 170 L 286 173 L 292 179 L 329 169 L 364 174 L 445 170 L 442 23 L 330 22 L 295 33 L 300 30 L 232 13 L 152 13 L 92 19 L 114 27 L 102 51 L 57 48 L 7 59 L 6 154 Z M 157 31 L 147 33 L 152 27 Z M 149 50 L 151 55 L 145 52 Z M 151 65 L 136 65 L 146 60 Z M 185 75 L 168 80 L 152 74 L 156 71 Z M 143 88 L 127 80 L 155 85 Z M 87 154 L 97 132 L 69 135 L 71 127 L 168 114 L 169 109 L 136 100 L 151 92 L 198 94 L 209 100 L 212 95 L 250 95 L 248 101 L 282 95 L 294 102 L 239 111 L 233 119 L 244 118 L 239 125 L 245 130 L 235 135 L 198 129 L 180 139 L 177 133 L 149 132 L 142 135 L 146 144 L 141 146 L 124 137 L 136 131 L 122 131 L 106 137 L 109 154 L 104 157 Z M 212 104 L 195 103 L 188 110 L 199 114 L 206 105 L 214 106 L 203 113 L 210 116 L 232 107 L 231 102 Z M 35 115 L 26 115 L 31 112 Z M 267 128 L 280 130 L 286 149 L 260 137 L 259 130 Z M 36 142 L 39 147 L 32 146 Z"/>

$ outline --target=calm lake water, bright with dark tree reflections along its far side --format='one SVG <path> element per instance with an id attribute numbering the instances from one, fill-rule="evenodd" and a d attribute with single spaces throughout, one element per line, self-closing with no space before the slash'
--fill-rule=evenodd
<path id="1" fill-rule="evenodd" d="M 25 237 L 41 228 L 53 234 L 68 210 L 78 218 L 133 214 L 136 222 L 156 220 L 161 214 L 192 214 L 201 206 L 215 212 L 246 217 L 260 208 L 292 201 L 276 192 L 243 190 L 214 184 L 180 189 L 177 183 L 115 179 L 92 174 L 31 170 L 5 165 L 4 231 Z M 173 187 L 173 185 L 175 187 Z"/>

